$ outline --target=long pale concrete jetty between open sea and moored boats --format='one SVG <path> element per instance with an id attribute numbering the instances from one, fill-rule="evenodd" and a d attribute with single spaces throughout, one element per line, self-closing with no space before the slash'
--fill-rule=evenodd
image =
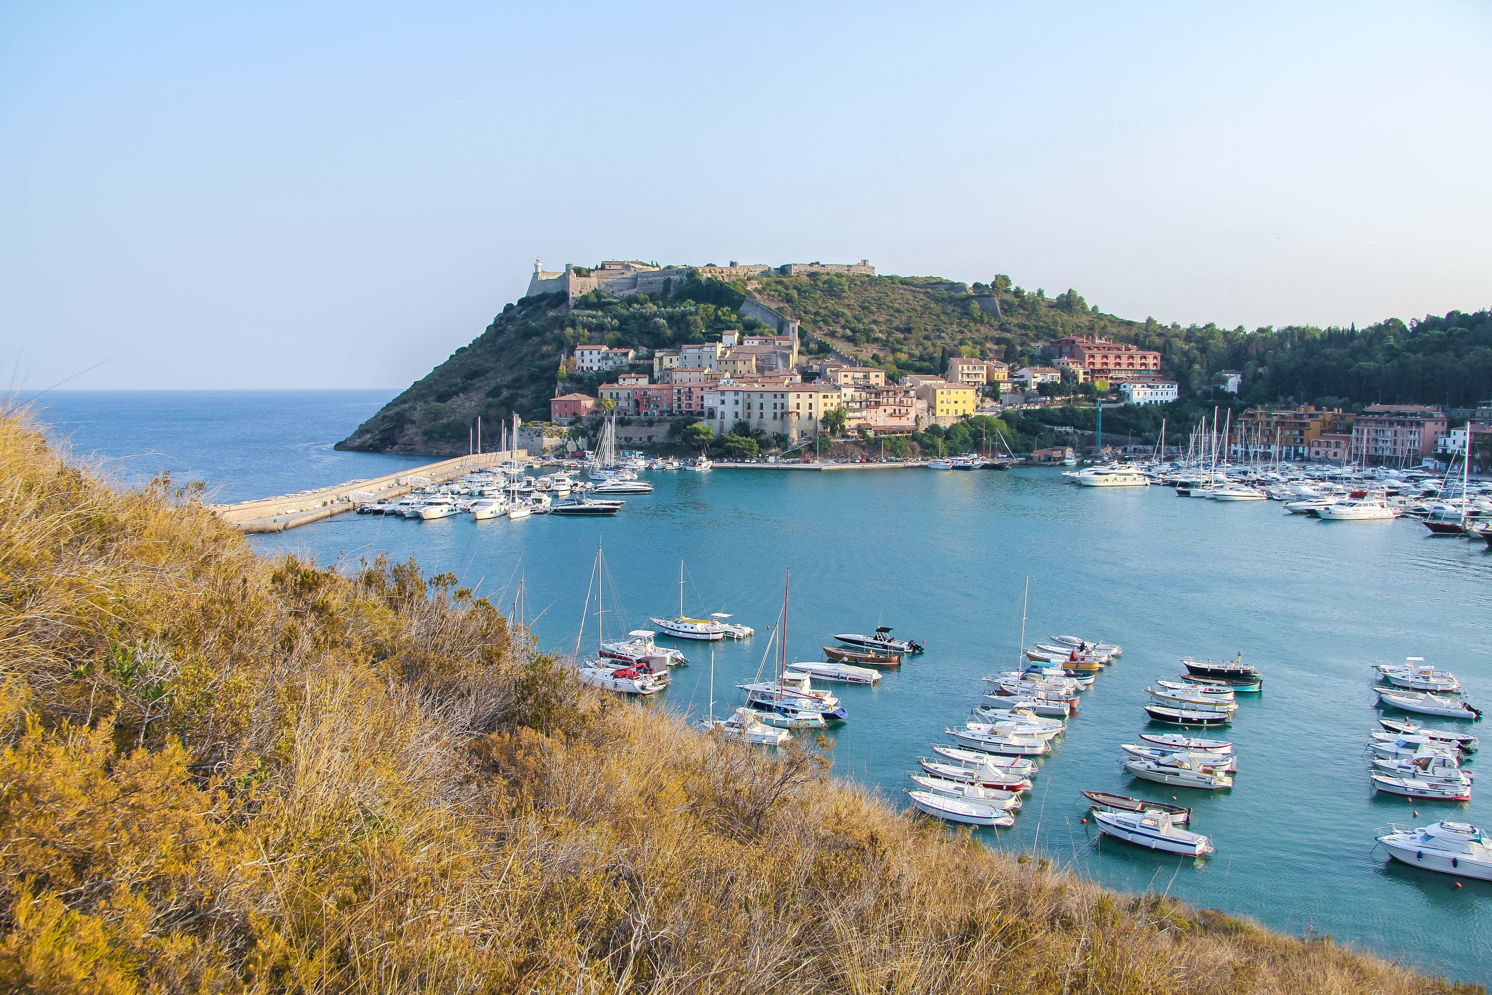
<path id="1" fill-rule="evenodd" d="M 255 501 L 240 501 L 239 504 L 209 506 L 221 521 L 237 528 L 240 533 L 283 533 L 286 528 L 319 522 L 333 515 L 357 510 L 363 501 L 376 498 L 392 498 L 409 494 L 427 483 L 442 483 L 460 477 L 463 473 L 495 467 L 510 459 L 527 459 L 527 449 L 509 449 L 506 452 L 483 452 L 455 459 L 442 459 L 422 467 L 410 467 L 398 473 L 389 473 L 370 480 L 348 480 L 331 488 L 303 491 L 300 494 L 285 494 Z"/>

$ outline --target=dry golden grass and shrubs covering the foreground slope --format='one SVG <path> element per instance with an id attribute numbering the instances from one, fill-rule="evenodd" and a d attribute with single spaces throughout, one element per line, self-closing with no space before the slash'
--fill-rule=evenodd
<path id="1" fill-rule="evenodd" d="M 266 562 L 0 421 L 0 985 L 1449 992 L 603 700 L 413 564 Z"/>

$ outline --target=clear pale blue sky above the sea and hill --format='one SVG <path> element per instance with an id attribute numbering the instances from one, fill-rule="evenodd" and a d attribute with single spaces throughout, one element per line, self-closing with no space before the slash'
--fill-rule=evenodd
<path id="1" fill-rule="evenodd" d="M 1488 3 L 0 4 L 12 388 L 401 388 L 534 260 L 1492 304 Z"/>

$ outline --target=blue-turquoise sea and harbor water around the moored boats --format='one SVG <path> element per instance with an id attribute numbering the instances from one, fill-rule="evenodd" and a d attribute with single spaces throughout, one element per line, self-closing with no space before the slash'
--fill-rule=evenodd
<path id="1" fill-rule="evenodd" d="M 330 445 L 388 395 L 63 394 L 43 398 L 43 416 L 67 427 L 78 452 L 154 449 L 240 498 L 382 471 L 391 458 L 333 453 Z M 103 407 L 113 413 L 100 416 Z M 131 461 L 136 473 L 155 464 L 166 465 L 164 456 Z M 998 837 L 986 831 L 991 846 L 1038 850 L 1122 891 L 1168 891 L 1289 934 L 1329 934 L 1426 971 L 1492 980 L 1492 885 L 1456 889 L 1446 876 L 1391 864 L 1373 841 L 1389 822 L 1492 825 L 1492 788 L 1459 806 L 1374 797 L 1364 758 L 1379 715 L 1370 661 L 1426 656 L 1456 671 L 1474 703 L 1492 703 L 1485 543 L 1429 539 L 1413 521 L 1303 519 L 1273 501 L 1074 488 L 1040 468 L 648 479 L 656 492 L 631 495 L 612 521 L 345 515 L 252 542 L 266 555 L 324 562 L 415 556 L 427 571 L 452 570 L 509 606 L 522 582 L 536 634 L 561 650 L 574 646 L 598 542 L 618 595 L 613 604 L 606 591 L 607 609 L 618 610 L 606 616 L 609 634 L 674 613 L 683 559 L 692 577 L 686 610 L 733 612 L 759 633 L 718 644 L 716 712 L 737 700 L 737 682 L 756 674 L 791 567 L 789 656 L 822 659 L 834 633 L 877 622 L 928 641 L 925 655 L 876 688 L 834 686 L 849 712 L 831 731 L 836 773 L 897 804 L 916 756 L 967 718 L 980 676 L 1015 664 L 1029 574 L 1028 637 L 1080 634 L 1118 641 L 1125 653 L 1083 694 L 1082 716 L 1040 761 L 1016 826 Z M 588 644 L 594 635 L 592 618 Z M 709 701 L 710 650 L 677 644 L 692 664 L 640 707 L 698 715 Z M 1240 698 L 1229 734 L 1237 786 L 1212 794 L 1125 777 L 1118 744 L 1146 728 L 1146 685 L 1180 673 L 1183 655 L 1238 650 L 1267 679 L 1262 695 Z M 1098 841 L 1079 822 L 1080 789 L 1180 797 L 1217 853 L 1194 861 Z"/>

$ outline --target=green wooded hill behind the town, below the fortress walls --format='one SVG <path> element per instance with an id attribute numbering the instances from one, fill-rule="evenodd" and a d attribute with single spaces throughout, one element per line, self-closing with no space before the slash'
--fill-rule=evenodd
<path id="1" fill-rule="evenodd" d="M 1049 361 L 1047 343 L 1062 336 L 1104 336 L 1158 349 L 1164 371 L 1180 383 L 1183 407 L 1209 389 L 1216 373 L 1229 368 L 1243 373 L 1234 398 L 1240 403 L 1473 406 L 1492 397 L 1488 310 L 1408 324 L 1395 318 L 1364 330 L 1250 333 L 1214 324 L 1183 328 L 1153 318 L 1131 321 L 1089 306 L 1074 289 L 1047 297 L 1044 289 L 1026 291 L 1007 276 L 988 285 L 852 273 L 764 273 L 724 282 L 701 276 L 698 269 L 676 269 L 677 280 L 668 279 L 665 289 L 652 295 L 592 289 L 573 301 L 551 292 L 507 304 L 470 345 L 337 448 L 458 455 L 466 452 L 477 416 L 489 425 L 513 413 L 546 421 L 548 398 L 557 391 L 594 395 L 607 377 L 561 370 L 561 354 L 577 345 L 677 348 L 727 328 L 762 327 L 755 315 L 773 322 L 773 312 L 800 322 L 810 355 L 837 351 L 886 368 L 892 379 L 943 371 L 950 355 L 1003 360 L 1019 368 Z M 651 365 L 642 362 L 634 370 L 651 371 Z"/>

